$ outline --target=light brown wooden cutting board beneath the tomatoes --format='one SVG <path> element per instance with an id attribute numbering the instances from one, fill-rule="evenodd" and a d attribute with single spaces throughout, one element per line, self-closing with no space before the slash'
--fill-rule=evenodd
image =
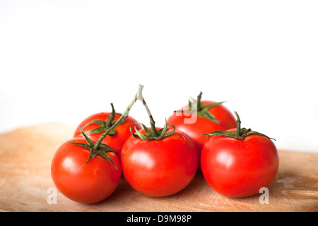
<path id="1" fill-rule="evenodd" d="M 201 173 L 186 189 L 167 198 L 139 194 L 122 178 L 105 201 L 73 202 L 55 188 L 50 166 L 55 151 L 74 129 L 48 123 L 0 135 L 0 211 L 318 211 L 318 153 L 288 150 L 279 150 L 280 167 L 268 187 L 268 204 L 262 204 L 261 193 L 248 198 L 217 194 Z"/>

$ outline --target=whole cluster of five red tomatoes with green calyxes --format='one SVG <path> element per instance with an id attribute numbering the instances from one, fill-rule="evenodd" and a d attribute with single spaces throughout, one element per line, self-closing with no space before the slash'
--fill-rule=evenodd
<path id="1" fill-rule="evenodd" d="M 163 128 L 143 101 L 151 127 L 128 115 L 92 114 L 55 153 L 51 172 L 57 189 L 73 201 L 97 203 L 109 197 L 122 175 L 141 194 L 165 197 L 182 191 L 202 173 L 218 193 L 246 197 L 271 184 L 278 153 L 271 138 L 240 127 L 240 117 L 223 102 L 201 95 L 168 117 Z"/>

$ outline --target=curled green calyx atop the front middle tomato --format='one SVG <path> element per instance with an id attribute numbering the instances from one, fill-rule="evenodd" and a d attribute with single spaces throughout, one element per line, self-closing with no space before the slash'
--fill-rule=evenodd
<path id="1" fill-rule="evenodd" d="M 143 141 L 160 141 L 163 138 L 172 135 L 172 133 L 175 133 L 175 126 L 167 124 L 167 120 L 165 120 L 165 126 L 162 129 L 159 129 L 158 131 L 157 129 L 155 129 L 154 126 L 152 126 L 152 128 L 150 129 L 142 123 L 139 123 L 139 124 L 143 126 L 143 129 L 146 131 L 146 134 L 143 134 L 140 131 L 138 131 L 138 129 L 136 129 L 136 126 L 135 126 L 136 134 L 131 131 L 131 128 L 130 128 L 130 132 L 131 132 L 131 135 L 134 136 L 134 138 L 141 138 L 141 140 Z M 170 127 L 172 127 L 172 131 L 168 132 L 167 130 L 170 129 Z"/>

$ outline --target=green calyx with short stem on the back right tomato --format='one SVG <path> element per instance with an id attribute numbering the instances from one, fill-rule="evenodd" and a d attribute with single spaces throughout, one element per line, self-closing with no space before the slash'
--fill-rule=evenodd
<path id="1" fill-rule="evenodd" d="M 182 113 L 187 113 L 187 114 L 197 114 L 199 117 L 213 121 L 216 124 L 221 124 L 222 121 L 216 119 L 216 117 L 213 114 L 211 114 L 211 112 L 209 112 L 208 110 L 211 107 L 216 107 L 217 105 L 223 104 L 225 101 L 213 102 L 211 104 L 204 105 L 201 102 L 201 97 L 202 97 L 202 92 L 200 92 L 200 94 L 198 95 L 196 100 L 193 98 L 191 98 L 192 101 L 189 100 L 189 110 L 182 109 L 182 110 L 177 110 L 174 112 L 182 112 Z"/>

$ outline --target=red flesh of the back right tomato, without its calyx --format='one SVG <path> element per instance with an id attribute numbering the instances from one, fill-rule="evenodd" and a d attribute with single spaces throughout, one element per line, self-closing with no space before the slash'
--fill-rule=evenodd
<path id="1" fill-rule="evenodd" d="M 214 103 L 213 101 L 201 101 L 203 105 L 209 105 Z M 189 106 L 182 107 L 182 110 L 189 110 Z M 196 144 L 199 160 L 201 159 L 201 150 L 206 143 L 206 136 L 202 136 L 202 133 L 211 133 L 217 130 L 226 130 L 235 128 L 235 117 L 233 114 L 223 105 L 216 105 L 208 109 L 208 112 L 213 114 L 216 119 L 221 121 L 220 124 L 200 117 L 198 115 L 190 116 L 181 112 L 175 112 L 168 119 L 167 123 L 174 125 L 176 129 L 187 133 Z M 201 169 L 200 162 L 198 169 Z"/>

